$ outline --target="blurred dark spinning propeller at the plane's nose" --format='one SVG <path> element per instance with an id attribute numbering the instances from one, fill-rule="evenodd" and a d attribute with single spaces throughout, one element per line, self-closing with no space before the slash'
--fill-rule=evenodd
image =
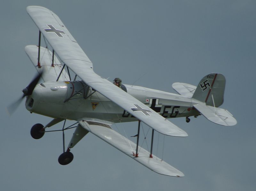
<path id="1" fill-rule="evenodd" d="M 33 90 L 35 89 L 36 87 L 36 84 L 38 83 L 39 79 L 41 78 L 42 76 L 42 72 L 38 73 L 37 76 L 30 82 L 30 84 L 24 88 L 22 90 L 23 92 L 23 95 L 14 103 L 12 103 L 11 105 L 9 105 L 6 109 L 7 109 L 7 112 L 12 115 L 12 113 L 14 113 L 14 111 L 16 111 L 16 109 L 19 107 L 22 99 L 25 97 L 25 96 L 30 96 L 32 95 L 33 93 Z"/>

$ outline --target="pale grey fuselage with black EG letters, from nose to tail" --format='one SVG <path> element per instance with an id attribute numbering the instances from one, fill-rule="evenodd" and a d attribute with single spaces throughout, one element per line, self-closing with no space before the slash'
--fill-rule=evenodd
<path id="1" fill-rule="evenodd" d="M 190 97 L 131 85 L 123 85 L 123 90 L 164 118 L 199 115 L 193 108 L 195 100 Z M 137 120 L 83 81 L 37 84 L 33 94 L 27 97 L 26 108 L 33 113 L 70 120 L 97 118 L 114 123 Z"/>

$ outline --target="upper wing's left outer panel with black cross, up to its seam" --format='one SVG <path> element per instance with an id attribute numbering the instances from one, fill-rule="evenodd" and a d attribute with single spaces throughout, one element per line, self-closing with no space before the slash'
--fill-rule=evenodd
<path id="1" fill-rule="evenodd" d="M 40 6 L 28 6 L 27 12 L 62 61 L 83 60 L 92 67 L 90 59 L 56 14 Z"/>

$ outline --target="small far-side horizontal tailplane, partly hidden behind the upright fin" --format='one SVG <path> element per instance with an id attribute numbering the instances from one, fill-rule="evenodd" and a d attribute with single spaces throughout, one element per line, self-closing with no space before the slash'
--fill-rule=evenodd
<path id="1" fill-rule="evenodd" d="M 180 82 L 173 83 L 172 88 L 181 96 L 187 97 L 192 97 L 196 90 L 196 86 Z"/>

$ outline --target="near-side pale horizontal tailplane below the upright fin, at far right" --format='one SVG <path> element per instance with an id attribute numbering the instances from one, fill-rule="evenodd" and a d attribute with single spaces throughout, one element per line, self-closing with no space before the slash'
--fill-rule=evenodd
<path id="1" fill-rule="evenodd" d="M 236 125 L 236 119 L 225 109 L 212 107 L 209 105 L 193 105 L 205 118 L 223 126 Z"/>

